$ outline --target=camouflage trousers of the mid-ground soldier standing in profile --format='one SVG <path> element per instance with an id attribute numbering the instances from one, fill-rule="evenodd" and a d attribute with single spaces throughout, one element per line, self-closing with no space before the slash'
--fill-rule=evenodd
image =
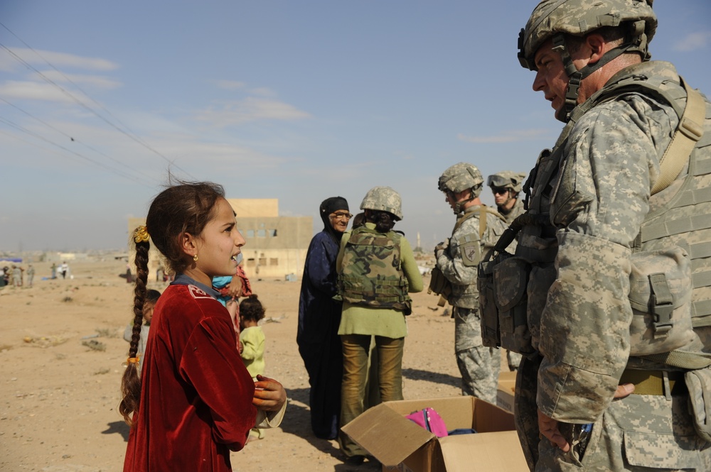
<path id="1" fill-rule="evenodd" d="M 454 350 L 462 395 L 472 395 L 496 405 L 501 351 L 481 345 L 478 310 L 454 307 Z"/>

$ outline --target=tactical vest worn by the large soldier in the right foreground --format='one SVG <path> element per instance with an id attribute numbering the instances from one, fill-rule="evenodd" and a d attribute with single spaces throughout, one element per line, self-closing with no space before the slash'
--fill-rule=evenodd
<path id="1" fill-rule="evenodd" d="M 658 182 L 655 182 L 649 200 L 650 212 L 643 221 L 632 251 L 633 253 L 668 251 L 673 246 L 678 246 L 688 253 L 693 283 L 690 303 L 693 331 L 697 339 L 690 342 L 688 348 L 681 348 L 678 351 L 690 351 L 698 355 L 711 348 L 711 104 L 703 101 L 700 105 L 702 123 L 691 120 L 688 114 L 685 114 L 685 109 L 688 108 L 686 107 L 687 95 L 697 92 L 685 91 L 684 87 L 670 81 L 668 77 L 646 77 L 643 72 L 636 75 L 633 71 L 630 75 L 621 77 L 593 94 L 584 104 L 577 106 L 572 111 L 571 120 L 563 129 L 553 151 L 544 150 L 540 154 L 536 167 L 524 185 L 528 214 L 521 217 L 525 222 L 518 235 L 516 255 L 542 267 L 552 267 L 557 253 L 557 240 L 555 227 L 550 224 L 550 198 L 554 191 L 555 177 L 562 163 L 565 141 L 574 124 L 583 114 L 598 104 L 629 92 L 641 92 L 664 101 L 670 104 L 680 117 L 673 141 L 676 139 L 686 141 L 685 157 L 678 159 L 678 166 L 673 170 L 669 170 L 669 166 L 664 170 L 664 159 L 671 156 L 665 154 L 665 158 L 661 161 L 661 175 Z M 680 146 L 676 148 L 678 150 Z M 667 163 L 670 162 L 671 159 Z M 677 179 L 676 177 L 686 167 L 688 167 L 688 175 L 683 177 L 683 181 Z M 663 193 L 661 190 L 665 190 L 672 182 L 675 182 L 675 185 L 681 183 L 675 194 L 670 197 L 669 192 Z M 555 273 L 549 275 L 555 277 Z M 666 329 L 665 321 L 668 322 L 670 313 L 668 305 L 675 301 L 672 300 L 674 296 L 668 290 L 668 284 L 663 277 L 660 280 L 658 275 L 651 274 L 649 277 L 650 304 L 653 305 L 649 309 L 653 317 L 656 317 L 654 326 Z M 535 327 L 531 326 L 535 339 L 534 330 Z M 661 329 L 659 332 L 664 334 Z M 700 368 L 704 363 L 707 365 L 711 363 L 710 356 L 702 355 L 709 357 L 709 360 L 704 361 L 683 356 L 683 353 L 680 354 L 678 351 L 645 358 L 682 368 Z M 631 363 L 634 364 L 636 361 L 631 358 Z"/>

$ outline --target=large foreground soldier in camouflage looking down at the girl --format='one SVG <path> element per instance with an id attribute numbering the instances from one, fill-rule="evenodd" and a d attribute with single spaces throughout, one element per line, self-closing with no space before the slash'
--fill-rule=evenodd
<path id="1" fill-rule="evenodd" d="M 535 353 L 518 371 L 515 417 L 532 471 L 711 471 L 710 437 L 689 412 L 708 422 L 710 400 L 688 393 L 689 374 L 710 385 L 708 367 L 684 361 L 711 351 L 708 323 L 697 321 L 711 299 L 711 105 L 673 65 L 648 62 L 651 4 L 544 0 L 521 31 L 533 89 L 567 123 L 531 172 L 516 249 L 531 266 Z M 688 108 L 696 119 L 680 119 Z M 675 140 L 693 142 L 668 172 Z M 669 246 L 692 259 L 694 328 L 683 347 L 642 357 L 628 300 L 634 256 Z"/>

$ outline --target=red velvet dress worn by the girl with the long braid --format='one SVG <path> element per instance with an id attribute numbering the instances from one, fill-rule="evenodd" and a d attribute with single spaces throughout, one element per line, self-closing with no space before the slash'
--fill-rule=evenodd
<path id="1" fill-rule="evenodd" d="M 235 345 L 220 302 L 196 285 L 166 288 L 141 359 L 124 472 L 232 470 L 230 449 L 245 446 L 257 414 L 255 384 Z"/>

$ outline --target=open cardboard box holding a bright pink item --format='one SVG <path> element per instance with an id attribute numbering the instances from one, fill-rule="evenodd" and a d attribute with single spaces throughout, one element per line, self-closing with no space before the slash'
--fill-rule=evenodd
<path id="1" fill-rule="evenodd" d="M 405 418 L 425 407 L 434 408 L 450 431 L 477 433 L 437 438 Z M 385 402 L 342 429 L 383 463 L 383 471 L 528 472 L 513 415 L 475 397 Z"/>

